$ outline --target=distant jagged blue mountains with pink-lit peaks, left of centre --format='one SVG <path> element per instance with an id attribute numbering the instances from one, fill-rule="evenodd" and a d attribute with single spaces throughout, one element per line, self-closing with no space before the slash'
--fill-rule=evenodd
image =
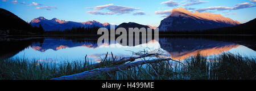
<path id="1" fill-rule="evenodd" d="M 84 23 L 77 23 L 74 21 L 65 21 L 65 20 L 59 20 L 56 18 L 53 18 L 51 20 L 48 20 L 44 17 L 39 17 L 31 20 L 30 24 L 34 27 L 39 27 L 41 24 L 45 31 L 64 31 L 65 29 L 71 29 L 71 28 L 77 28 L 77 27 L 85 27 L 85 28 L 91 28 L 91 27 L 105 27 L 110 28 L 109 23 L 100 23 L 98 21 L 86 21 Z M 116 27 L 116 25 L 114 25 Z"/>

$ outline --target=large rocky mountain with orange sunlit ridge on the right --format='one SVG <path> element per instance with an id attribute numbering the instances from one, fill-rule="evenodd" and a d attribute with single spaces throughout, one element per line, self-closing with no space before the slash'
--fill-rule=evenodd
<path id="1" fill-rule="evenodd" d="M 195 31 L 221 27 L 232 27 L 240 24 L 220 14 L 209 12 L 190 12 L 184 8 L 174 8 L 172 14 L 163 19 L 159 31 Z"/>

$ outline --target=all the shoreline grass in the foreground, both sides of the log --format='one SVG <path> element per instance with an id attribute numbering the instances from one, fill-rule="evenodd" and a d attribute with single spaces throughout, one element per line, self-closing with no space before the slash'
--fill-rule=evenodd
<path id="1" fill-rule="evenodd" d="M 176 62 L 158 62 L 100 74 L 88 79 L 114 80 L 243 80 L 256 79 L 254 58 L 239 54 L 222 53 L 211 58 L 200 54 L 184 60 L 184 65 Z M 0 59 L 0 79 L 51 79 L 93 70 L 89 61 L 47 63 L 26 59 Z M 111 58 L 106 58 L 101 68 L 111 67 Z"/>

